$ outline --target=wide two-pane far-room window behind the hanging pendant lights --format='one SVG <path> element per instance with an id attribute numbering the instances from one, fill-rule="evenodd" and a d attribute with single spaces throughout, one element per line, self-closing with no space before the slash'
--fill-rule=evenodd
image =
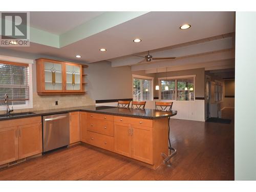
<path id="1" fill-rule="evenodd" d="M 195 75 L 159 78 L 161 100 L 195 100 Z"/>

